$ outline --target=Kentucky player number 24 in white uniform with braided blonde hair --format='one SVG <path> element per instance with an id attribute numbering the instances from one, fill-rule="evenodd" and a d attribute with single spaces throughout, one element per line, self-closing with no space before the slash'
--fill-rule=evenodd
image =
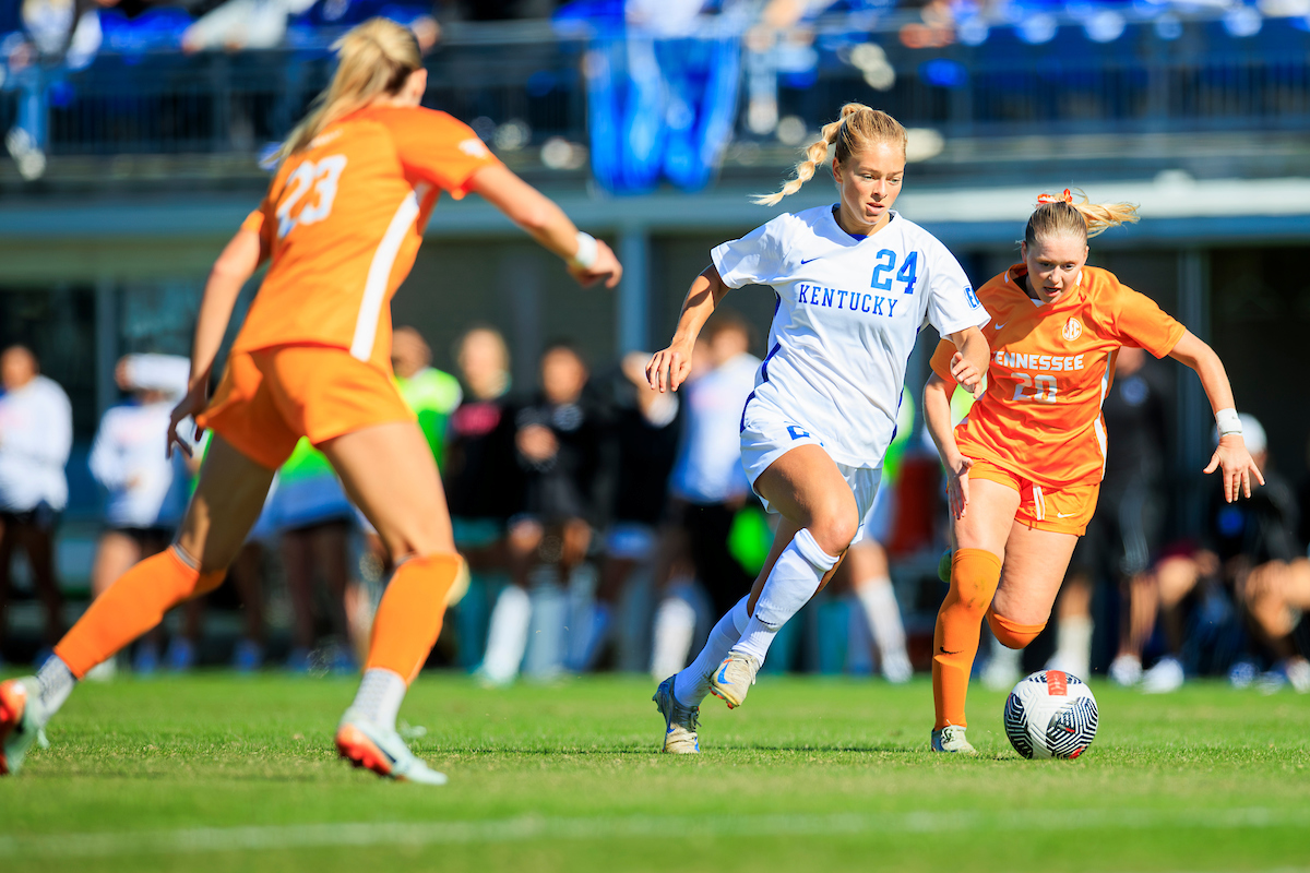
<path id="1" fill-rule="evenodd" d="M 959 349 L 964 385 L 986 366 L 989 315 L 964 271 L 931 234 L 892 211 L 905 175 L 905 130 L 886 113 L 848 103 L 806 151 L 778 203 L 810 179 L 836 145 L 831 207 L 783 213 L 714 249 L 693 283 L 673 342 L 647 365 L 651 387 L 677 390 L 692 346 L 732 288 L 772 285 L 769 353 L 741 411 L 741 461 L 756 493 L 782 514 L 760 576 L 719 619 L 696 661 L 660 683 L 664 751 L 698 751 L 700 703 L 713 691 L 745 700 L 778 630 L 831 579 L 878 493 L 896 428 L 905 365 L 925 319 Z"/>

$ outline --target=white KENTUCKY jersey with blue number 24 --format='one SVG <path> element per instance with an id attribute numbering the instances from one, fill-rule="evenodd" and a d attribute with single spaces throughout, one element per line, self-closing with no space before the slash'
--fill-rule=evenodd
<path id="1" fill-rule="evenodd" d="M 779 215 L 711 254 L 728 288 L 778 296 L 747 408 L 774 407 L 837 463 L 880 467 L 920 327 L 946 336 L 990 317 L 933 234 L 892 212 L 874 236 L 853 237 L 834 208 Z"/>

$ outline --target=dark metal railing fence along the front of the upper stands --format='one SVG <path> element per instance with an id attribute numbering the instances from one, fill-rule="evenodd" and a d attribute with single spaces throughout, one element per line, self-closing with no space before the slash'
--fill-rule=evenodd
<path id="1" fill-rule="evenodd" d="M 544 25 L 506 30 L 500 42 L 494 27 L 465 33 L 473 37 L 452 39 L 428 60 L 430 105 L 478 119 L 478 132 L 502 151 L 553 136 L 586 143 L 584 39 L 555 38 Z M 853 63 L 863 43 L 883 47 L 892 76 L 867 76 Z M 812 59 L 799 72 L 772 56 L 743 65 L 757 75 L 741 92 L 738 139 L 774 137 L 774 127 L 748 119 L 760 69 L 777 114 L 810 131 L 850 99 L 947 137 L 1310 128 L 1310 34 L 1273 21 L 1243 39 L 1214 22 L 1189 22 L 1174 41 L 1133 25 L 1112 43 L 1061 27 L 1039 46 L 1005 31 L 980 46 L 909 50 L 893 35 L 825 20 Z M 254 153 L 287 134 L 329 72 L 325 52 L 293 50 L 102 55 L 77 73 L 46 71 L 47 152 Z M 0 93 L 0 124 L 17 120 L 22 99 L 12 86 Z"/>

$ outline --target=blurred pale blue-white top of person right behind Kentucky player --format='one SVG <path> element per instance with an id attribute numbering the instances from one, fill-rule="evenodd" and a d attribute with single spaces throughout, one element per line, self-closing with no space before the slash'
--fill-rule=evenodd
<path id="1" fill-rule="evenodd" d="M 669 474 L 675 497 L 705 507 L 751 491 L 738 420 L 758 368 L 758 357 L 741 353 L 683 386 L 686 425 Z"/>

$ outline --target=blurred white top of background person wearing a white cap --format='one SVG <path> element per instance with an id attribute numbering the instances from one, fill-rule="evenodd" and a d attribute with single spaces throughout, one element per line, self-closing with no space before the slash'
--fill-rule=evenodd
<path id="1" fill-rule="evenodd" d="M 186 508 L 187 474 L 182 453 L 168 458 L 164 437 L 172 404 L 127 403 L 111 407 L 100 420 L 89 466 L 109 491 L 105 520 L 111 527 L 176 525 Z M 178 425 L 190 432 L 190 419 Z"/>

